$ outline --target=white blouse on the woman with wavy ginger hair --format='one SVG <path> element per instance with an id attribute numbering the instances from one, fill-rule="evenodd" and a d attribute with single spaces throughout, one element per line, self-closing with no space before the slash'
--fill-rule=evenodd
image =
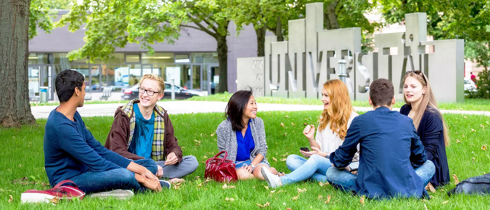
<path id="1" fill-rule="evenodd" d="M 350 123 L 354 117 L 359 116 L 356 112 L 352 111 L 347 122 L 347 129 L 350 127 Z M 320 127 L 320 126 L 318 126 Z M 320 150 L 322 152 L 332 153 L 335 152 L 339 146 L 342 145 L 343 140 L 337 135 L 337 132 L 332 132 L 330 130 L 330 123 L 322 130 L 317 129 L 317 134 L 315 136 L 315 141 L 320 145 Z M 359 151 L 359 144 L 357 145 L 357 150 Z"/>

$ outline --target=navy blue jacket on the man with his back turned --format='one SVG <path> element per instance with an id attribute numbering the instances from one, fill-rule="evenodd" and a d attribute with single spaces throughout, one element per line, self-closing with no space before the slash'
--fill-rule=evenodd
<path id="1" fill-rule="evenodd" d="M 330 162 L 335 167 L 349 165 L 360 144 L 359 171 L 351 187 L 357 195 L 369 198 L 416 197 L 429 195 L 414 166 L 427 160 L 411 118 L 379 107 L 355 117 L 347 136 Z"/>

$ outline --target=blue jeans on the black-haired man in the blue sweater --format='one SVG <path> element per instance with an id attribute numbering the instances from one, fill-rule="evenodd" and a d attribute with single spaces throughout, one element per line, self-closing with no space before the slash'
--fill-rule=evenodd
<path id="1" fill-rule="evenodd" d="M 133 162 L 145 166 L 153 174 L 156 174 L 158 170 L 155 161 L 151 159 L 142 159 Z M 134 172 L 131 172 L 126 168 L 102 172 L 89 169 L 87 172 L 76 175 L 70 180 L 72 180 L 80 190 L 87 194 L 113 189 L 132 189 L 135 192 L 141 192 L 147 189 L 136 181 Z"/>

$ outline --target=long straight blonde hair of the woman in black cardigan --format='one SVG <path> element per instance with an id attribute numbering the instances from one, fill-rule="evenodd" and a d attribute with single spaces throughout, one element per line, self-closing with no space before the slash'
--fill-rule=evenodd
<path id="1" fill-rule="evenodd" d="M 434 97 L 434 93 L 432 93 L 432 89 L 429 84 L 429 79 L 425 76 L 424 73 L 415 73 L 414 71 L 408 71 L 405 73 L 405 77 L 403 78 L 403 83 L 405 83 L 405 79 L 409 76 L 417 79 L 420 84 L 422 84 L 422 88 L 426 87 L 425 94 L 422 94 L 422 98 L 420 103 L 418 104 L 418 110 L 413 116 L 415 128 L 418 130 L 418 126 L 420 125 L 420 120 L 424 116 L 425 111 L 436 113 L 442 120 L 443 133 L 444 133 L 444 144 L 449 146 L 449 130 L 447 129 L 446 121 L 444 117 L 442 117 L 441 111 L 439 111 L 439 106 L 437 105 L 436 98 Z M 426 82 L 427 81 L 427 82 Z M 410 102 L 407 101 L 407 97 L 403 94 L 403 99 L 405 103 L 411 105 Z"/>

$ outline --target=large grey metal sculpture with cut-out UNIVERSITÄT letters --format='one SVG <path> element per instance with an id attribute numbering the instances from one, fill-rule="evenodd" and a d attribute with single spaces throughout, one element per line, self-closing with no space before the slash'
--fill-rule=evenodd
<path id="1" fill-rule="evenodd" d="M 289 21 L 289 41 L 267 36 L 265 57 L 237 59 L 237 89 L 248 85 L 257 95 L 318 98 L 323 83 L 339 78 L 337 62 L 344 59 L 352 100 L 367 100 L 369 84 L 378 78 L 390 79 L 396 100 L 403 100 L 405 72 L 421 70 L 438 101 L 463 102 L 464 40 L 427 41 L 426 21 L 425 13 L 406 14 L 406 32 L 376 34 L 378 52 L 361 53 L 361 28 L 324 30 L 323 3 L 306 4 L 306 18 Z M 426 46 L 434 52 L 426 53 Z"/>

